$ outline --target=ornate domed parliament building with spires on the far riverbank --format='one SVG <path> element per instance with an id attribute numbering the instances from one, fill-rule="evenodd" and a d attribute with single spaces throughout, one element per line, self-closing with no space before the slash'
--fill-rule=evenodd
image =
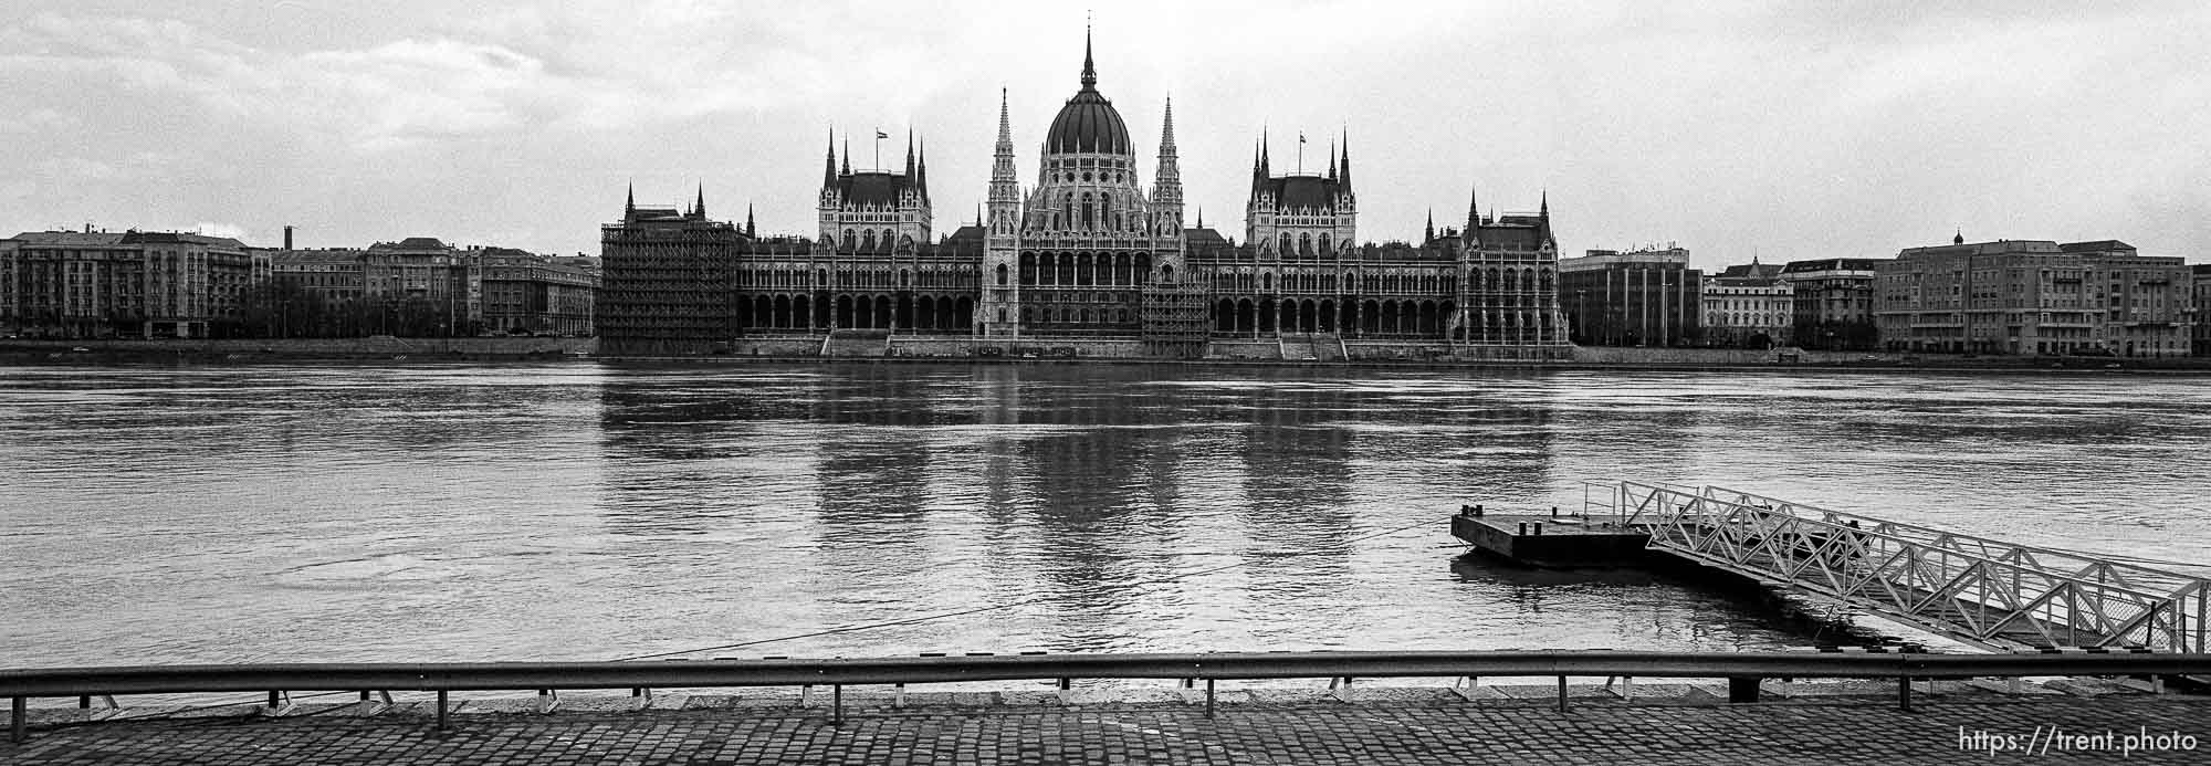
<path id="1" fill-rule="evenodd" d="M 999 95 L 991 186 L 975 224 L 937 235 L 929 153 L 853 170 L 831 139 L 814 237 L 758 237 L 685 208 L 601 226 L 601 354 L 1086 354 L 1232 359 L 1563 359 L 1559 246 L 1537 215 L 1481 215 L 1419 244 L 1360 244 L 1351 144 L 1316 173 L 1251 157 L 1243 241 L 1183 219 L 1167 102 L 1152 184 L 1121 113 L 1081 89 L 1019 184 Z M 1433 219 L 1433 217 L 1431 217 Z"/>

